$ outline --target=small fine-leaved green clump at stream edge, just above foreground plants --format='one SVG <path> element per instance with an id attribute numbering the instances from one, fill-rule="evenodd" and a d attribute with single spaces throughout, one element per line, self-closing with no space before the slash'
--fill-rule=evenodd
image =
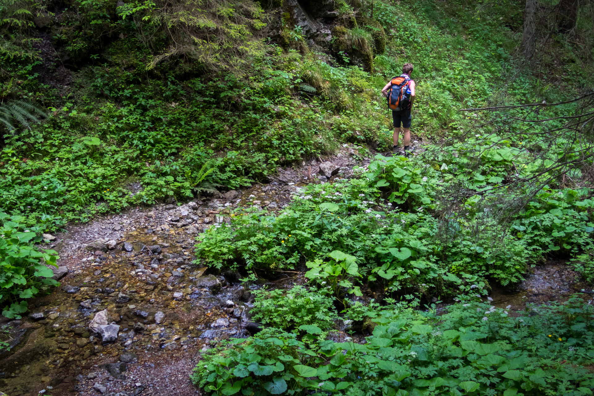
<path id="1" fill-rule="evenodd" d="M 309 291 L 303 286 L 292 289 L 255 290 L 254 319 L 263 324 L 294 330 L 301 325 L 315 325 L 327 330 L 336 315 L 332 297 Z"/>

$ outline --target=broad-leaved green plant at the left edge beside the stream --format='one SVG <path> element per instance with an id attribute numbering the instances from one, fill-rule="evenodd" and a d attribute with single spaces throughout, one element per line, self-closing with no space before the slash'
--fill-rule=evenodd
<path id="1" fill-rule="evenodd" d="M 58 267 L 55 251 L 40 251 L 34 246 L 42 240 L 37 236 L 39 227 L 25 227 L 21 216 L 0 213 L 0 306 L 2 315 L 20 319 L 27 311 L 27 302 L 36 294 L 46 292 L 58 284 L 52 279 L 53 271 L 46 265 Z"/>

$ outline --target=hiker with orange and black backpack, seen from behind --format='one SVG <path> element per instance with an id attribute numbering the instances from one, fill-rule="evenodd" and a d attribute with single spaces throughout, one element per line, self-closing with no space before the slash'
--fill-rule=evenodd
<path id="1" fill-rule="evenodd" d="M 410 80 L 412 74 L 412 64 L 402 66 L 402 74 L 394 77 L 381 90 L 381 93 L 387 97 L 388 108 L 392 110 L 392 119 L 394 121 L 394 136 L 392 153 L 398 153 L 398 133 L 400 131 L 400 122 L 402 122 L 403 135 L 405 139 L 405 149 L 403 154 L 409 156 L 414 150 L 410 148 L 410 123 L 412 122 L 412 104 L 415 102 L 415 81 Z"/>

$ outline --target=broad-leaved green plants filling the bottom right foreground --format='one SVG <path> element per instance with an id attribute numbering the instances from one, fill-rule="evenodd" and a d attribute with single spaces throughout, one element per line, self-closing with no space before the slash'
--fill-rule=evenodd
<path id="1" fill-rule="evenodd" d="M 268 330 L 208 355 L 192 379 L 208 384 L 206 391 L 225 395 L 240 390 L 245 395 L 365 395 L 378 389 L 394 396 L 590 395 L 592 307 L 572 299 L 532 309 L 538 315 L 519 318 L 480 302 L 450 306 L 442 316 L 410 309 L 378 311 L 373 335 L 364 345 L 326 340 L 307 350 L 288 338 L 296 350 L 287 356 L 281 356 L 287 335 Z M 257 362 L 267 356 L 266 368 L 252 363 L 250 356 Z M 292 366 L 280 363 L 282 359 Z"/>

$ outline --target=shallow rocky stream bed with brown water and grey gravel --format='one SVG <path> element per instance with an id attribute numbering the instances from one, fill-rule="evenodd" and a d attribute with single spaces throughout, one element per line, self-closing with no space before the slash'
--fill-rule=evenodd
<path id="1" fill-rule="evenodd" d="M 329 170 L 321 179 L 331 173 L 349 177 L 357 154 L 356 147 L 343 147 L 332 159 L 334 167 L 323 164 Z M 369 160 L 359 164 L 365 163 Z M 201 351 L 223 338 L 246 337 L 257 324 L 249 315 L 251 293 L 237 274 L 192 263 L 195 237 L 230 221 L 231 208 L 280 210 L 301 183 L 318 178 L 312 173 L 319 168 L 314 160 L 245 191 L 181 206 L 136 208 L 48 235 L 49 246 L 60 255 L 55 272 L 61 286 L 31 300 L 23 319 L 0 319 L 3 339 L 11 345 L 0 354 L 0 391 L 10 396 L 200 394 L 189 374 Z M 497 289 L 492 297 L 497 306 L 518 311 L 526 302 L 579 291 L 583 285 L 577 278 L 563 262 L 554 262 L 536 267 L 519 289 Z M 301 274 L 282 273 L 266 283 L 290 287 L 303 281 Z M 339 339 L 341 333 L 331 337 Z"/>

